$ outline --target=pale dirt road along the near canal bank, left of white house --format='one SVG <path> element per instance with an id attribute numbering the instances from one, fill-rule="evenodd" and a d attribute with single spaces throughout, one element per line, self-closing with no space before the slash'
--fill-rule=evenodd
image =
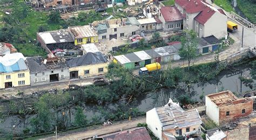
<path id="1" fill-rule="evenodd" d="M 73 134 L 65 133 L 62 135 L 58 135 L 57 138 L 75 140 L 75 139 L 81 139 L 81 138 L 86 138 L 90 136 L 96 136 L 96 135 L 100 136 L 103 134 L 109 134 L 111 132 L 120 131 L 121 129 L 126 130 L 126 129 L 137 127 L 138 123 L 146 123 L 146 117 L 145 116 L 139 117 L 132 121 L 120 121 L 117 123 L 113 123 L 112 125 L 109 125 L 109 126 L 100 126 L 99 128 L 96 128 L 96 129 L 91 129 L 83 132 L 75 132 Z M 55 139 L 55 136 L 42 138 L 42 139 L 53 140 Z"/>

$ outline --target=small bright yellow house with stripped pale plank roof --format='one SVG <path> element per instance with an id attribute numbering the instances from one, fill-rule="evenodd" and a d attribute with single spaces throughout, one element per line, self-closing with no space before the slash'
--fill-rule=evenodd
<path id="1" fill-rule="evenodd" d="M 98 34 L 90 25 L 69 27 L 69 31 L 75 39 L 75 45 L 98 42 Z"/>

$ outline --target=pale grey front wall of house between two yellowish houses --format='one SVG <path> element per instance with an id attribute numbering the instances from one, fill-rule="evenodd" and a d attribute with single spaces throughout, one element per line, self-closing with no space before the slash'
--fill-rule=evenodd
<path id="1" fill-rule="evenodd" d="M 53 73 L 52 73 L 53 72 Z M 36 85 L 43 85 L 46 83 L 50 83 L 50 75 L 51 74 L 59 74 L 59 81 L 66 81 L 70 79 L 70 74 L 69 74 L 69 68 L 65 67 L 62 69 L 50 69 L 48 71 L 45 71 L 44 73 L 30 73 L 30 81 L 31 81 L 31 86 L 36 86 Z M 61 75 L 64 75 L 64 79 L 61 79 Z M 35 82 L 35 78 L 38 79 L 38 82 Z M 45 81 L 42 81 L 42 78 L 45 78 Z"/>

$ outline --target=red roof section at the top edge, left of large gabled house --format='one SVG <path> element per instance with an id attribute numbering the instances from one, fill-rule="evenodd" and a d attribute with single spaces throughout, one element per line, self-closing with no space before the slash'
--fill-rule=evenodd
<path id="1" fill-rule="evenodd" d="M 187 13 L 200 12 L 205 8 L 205 4 L 201 3 L 201 0 L 175 0 L 175 3 L 184 8 Z"/>

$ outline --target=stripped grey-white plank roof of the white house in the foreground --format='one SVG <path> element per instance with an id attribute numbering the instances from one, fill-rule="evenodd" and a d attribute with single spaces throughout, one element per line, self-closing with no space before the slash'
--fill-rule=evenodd
<path id="1" fill-rule="evenodd" d="M 177 127 L 185 128 L 202 123 L 197 109 L 185 111 L 179 106 L 179 103 L 172 102 L 171 99 L 164 107 L 154 109 L 156 110 L 163 130 L 175 129 Z"/>

